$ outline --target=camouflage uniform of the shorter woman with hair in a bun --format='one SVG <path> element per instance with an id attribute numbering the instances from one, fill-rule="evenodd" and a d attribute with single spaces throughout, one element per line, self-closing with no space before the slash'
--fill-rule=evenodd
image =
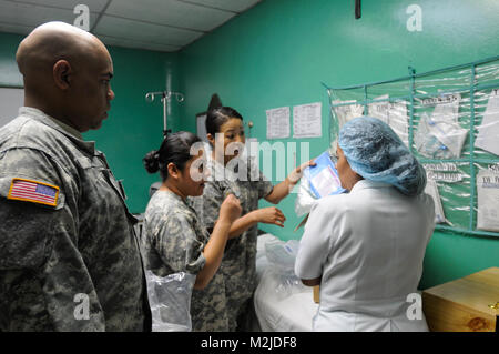
<path id="1" fill-rule="evenodd" d="M 197 274 L 206 263 L 202 253 L 210 234 L 195 211 L 170 191 L 157 191 L 145 210 L 142 252 L 145 267 L 157 276 Z M 193 331 L 228 331 L 224 276 L 216 272 L 203 290 L 193 290 Z"/>

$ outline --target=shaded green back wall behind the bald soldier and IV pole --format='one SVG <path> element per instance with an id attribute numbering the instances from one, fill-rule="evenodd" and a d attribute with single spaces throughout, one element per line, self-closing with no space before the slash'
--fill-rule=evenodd
<path id="1" fill-rule="evenodd" d="M 0 87 L 22 85 L 16 64 L 16 51 L 23 36 L 0 33 Z M 162 53 L 109 47 L 113 59 L 114 78 L 111 87 L 115 99 L 110 117 L 96 131 L 84 133 L 103 151 L 116 179 L 122 179 L 128 205 L 134 213 L 145 210 L 149 186 L 160 180 L 142 165 L 142 158 L 157 149 L 163 139 L 163 107 L 160 100 L 145 101 L 145 93 L 177 90 L 177 53 Z M 177 130 L 175 117 L 179 104 L 172 102 L 167 112 L 169 128 Z"/>

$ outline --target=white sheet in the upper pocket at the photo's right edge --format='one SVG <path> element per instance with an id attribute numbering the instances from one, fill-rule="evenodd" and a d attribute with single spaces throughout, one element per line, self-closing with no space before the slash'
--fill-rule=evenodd
<path id="1" fill-rule="evenodd" d="M 492 90 L 489 95 L 475 146 L 499 155 L 499 89 Z"/>

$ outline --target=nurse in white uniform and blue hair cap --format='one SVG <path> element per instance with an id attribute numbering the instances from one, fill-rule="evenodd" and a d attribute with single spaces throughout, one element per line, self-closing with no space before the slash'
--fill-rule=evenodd
<path id="1" fill-rule="evenodd" d="M 305 285 L 320 284 L 314 331 L 428 331 L 417 294 L 435 227 L 425 170 L 369 117 L 342 128 L 337 159 L 349 193 L 313 206 L 295 263 Z"/>

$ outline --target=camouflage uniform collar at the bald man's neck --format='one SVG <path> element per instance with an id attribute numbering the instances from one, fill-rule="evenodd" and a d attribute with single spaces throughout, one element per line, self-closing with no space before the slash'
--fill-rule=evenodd
<path id="1" fill-rule="evenodd" d="M 39 109 L 32 107 L 21 107 L 19 109 L 19 115 L 27 115 L 32 118 L 50 128 L 59 131 L 60 133 L 68 136 L 73 143 L 75 143 L 79 148 L 90 152 L 92 155 L 95 153 L 95 142 L 94 141 L 84 141 L 81 133 L 72 127 L 61 122 L 60 120 L 45 114 Z"/>

